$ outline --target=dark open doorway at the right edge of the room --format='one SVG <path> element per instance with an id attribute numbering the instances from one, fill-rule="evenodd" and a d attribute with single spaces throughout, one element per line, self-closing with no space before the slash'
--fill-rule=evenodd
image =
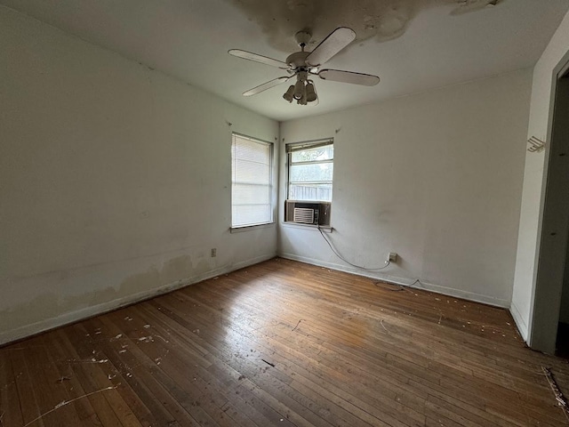
<path id="1" fill-rule="evenodd" d="M 556 68 L 541 192 L 538 250 L 529 344 L 569 356 L 569 55 Z M 564 282 L 567 285 L 564 289 Z M 566 327 L 565 327 L 566 325 Z M 559 334 L 557 334 L 559 333 Z M 558 336 L 557 336 L 558 335 Z"/>

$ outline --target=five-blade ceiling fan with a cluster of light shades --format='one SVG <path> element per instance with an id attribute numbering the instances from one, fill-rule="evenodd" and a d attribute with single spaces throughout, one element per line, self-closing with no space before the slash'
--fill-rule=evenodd
<path id="1" fill-rule="evenodd" d="M 312 52 L 306 52 L 304 49 L 309 44 L 311 37 L 312 35 L 308 31 L 296 33 L 294 38 L 301 47 L 301 52 L 292 53 L 284 62 L 239 49 L 229 50 L 228 53 L 230 55 L 281 68 L 289 74 L 288 76 L 276 77 L 262 85 L 255 86 L 244 92 L 243 96 L 261 93 L 296 77 L 296 83 L 288 88 L 283 98 L 289 102 L 297 101 L 298 104 L 307 105 L 309 102 L 317 101 L 318 99 L 314 82 L 310 78 L 312 76 L 318 76 L 323 80 L 354 85 L 373 86 L 380 83 L 380 77 L 369 74 L 342 71 L 340 69 L 320 69 L 327 60 L 330 60 L 356 38 L 356 33 L 353 29 L 346 27 L 336 28 Z"/>

